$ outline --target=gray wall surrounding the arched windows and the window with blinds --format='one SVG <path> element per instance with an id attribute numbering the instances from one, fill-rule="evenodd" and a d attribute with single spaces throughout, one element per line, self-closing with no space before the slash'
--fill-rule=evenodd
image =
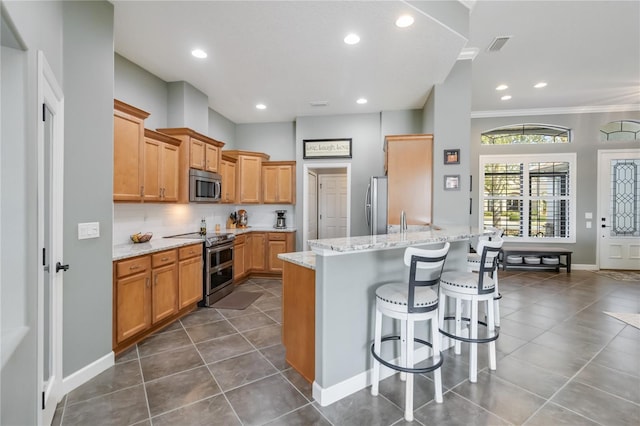
<path id="1" fill-rule="evenodd" d="M 640 112 L 564 114 L 564 115 L 536 115 L 520 117 L 475 118 L 471 120 L 470 157 L 473 181 L 478 179 L 478 156 L 497 154 L 536 154 L 536 153 L 565 153 L 576 152 L 577 164 L 577 212 L 576 212 L 576 243 L 562 244 L 573 250 L 572 262 L 577 264 L 594 265 L 596 259 L 597 227 L 597 167 L 599 149 L 638 148 L 638 142 L 600 141 L 600 126 L 610 121 L 634 119 L 640 120 Z M 572 130 L 573 141 L 569 144 L 545 145 L 480 145 L 482 132 L 496 127 L 518 123 L 543 123 L 565 126 Z M 474 200 L 471 223 L 478 224 L 478 184 L 474 183 L 471 196 Z M 584 214 L 594 214 L 593 227 L 587 229 Z"/>

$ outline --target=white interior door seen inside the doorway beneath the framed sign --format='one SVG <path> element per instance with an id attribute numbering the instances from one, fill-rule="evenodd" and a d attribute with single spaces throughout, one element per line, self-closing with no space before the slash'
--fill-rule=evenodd
<path id="1" fill-rule="evenodd" d="M 319 176 L 319 238 L 347 236 L 347 176 Z"/>

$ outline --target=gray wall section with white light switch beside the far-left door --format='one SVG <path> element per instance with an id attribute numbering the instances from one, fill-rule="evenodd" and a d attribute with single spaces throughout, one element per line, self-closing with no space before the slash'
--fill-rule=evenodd
<path id="1" fill-rule="evenodd" d="M 111 352 L 113 222 L 113 5 L 64 7 L 63 373 Z M 100 238 L 78 240 L 80 222 Z"/>

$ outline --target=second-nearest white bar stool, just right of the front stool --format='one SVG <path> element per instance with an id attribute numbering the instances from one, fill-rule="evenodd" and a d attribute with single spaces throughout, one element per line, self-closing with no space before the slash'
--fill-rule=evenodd
<path id="1" fill-rule="evenodd" d="M 469 381 L 478 381 L 478 343 L 489 343 L 489 368 L 496 369 L 496 339 L 499 336 L 495 328 L 494 304 L 495 287 L 493 275 L 496 273 L 498 253 L 502 248 L 502 238 L 492 241 L 480 240 L 478 251 L 481 254 L 478 274 L 468 271 L 447 271 L 440 279 L 440 333 L 455 340 L 454 352 L 459 355 L 460 342 L 469 345 Z M 447 297 L 455 300 L 455 313 L 446 315 Z M 462 316 L 464 304 L 469 304 L 470 317 Z M 486 302 L 487 320 L 478 319 L 478 304 Z M 445 325 L 445 321 L 455 321 L 455 329 Z M 469 323 L 469 335 L 462 334 L 462 321 Z M 447 325 L 450 323 L 447 323 Z M 478 337 L 478 324 L 486 327 L 482 337 Z"/>

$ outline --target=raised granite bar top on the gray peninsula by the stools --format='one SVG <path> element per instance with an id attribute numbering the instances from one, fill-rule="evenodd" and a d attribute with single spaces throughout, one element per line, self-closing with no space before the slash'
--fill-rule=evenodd
<path id="1" fill-rule="evenodd" d="M 420 244 L 468 240 L 481 234 L 482 232 L 478 231 L 477 228 L 468 226 L 448 226 L 446 228 L 433 226 L 432 229 L 428 231 L 327 238 L 322 240 L 309 240 L 308 244 L 314 253 L 330 256 L 357 251 L 384 250 Z"/>

